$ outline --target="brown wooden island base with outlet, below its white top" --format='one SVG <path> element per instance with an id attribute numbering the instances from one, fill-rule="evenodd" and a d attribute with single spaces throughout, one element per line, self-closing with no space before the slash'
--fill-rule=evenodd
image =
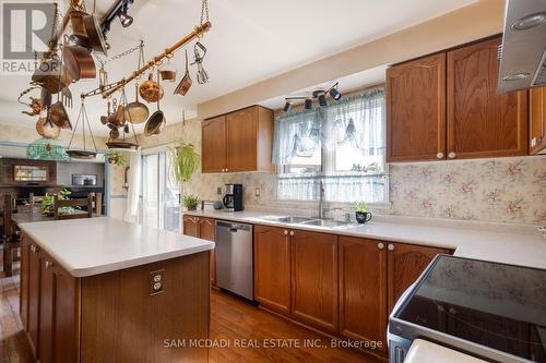
<path id="1" fill-rule="evenodd" d="M 206 362 L 166 341 L 209 337 L 207 279 L 207 251 L 74 277 L 23 233 L 21 319 L 41 363 Z"/>

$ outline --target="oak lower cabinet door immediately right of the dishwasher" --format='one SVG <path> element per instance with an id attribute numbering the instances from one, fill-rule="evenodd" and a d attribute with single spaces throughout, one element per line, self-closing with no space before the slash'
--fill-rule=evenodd
<path id="1" fill-rule="evenodd" d="M 284 228 L 254 227 L 254 298 L 268 308 L 290 313 L 290 239 Z"/>

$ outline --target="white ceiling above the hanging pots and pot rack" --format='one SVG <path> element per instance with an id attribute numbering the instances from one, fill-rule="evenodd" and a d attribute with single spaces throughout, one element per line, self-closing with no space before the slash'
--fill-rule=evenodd
<path id="1" fill-rule="evenodd" d="M 87 8 L 92 1 L 87 0 Z M 162 100 L 167 123 L 181 120 L 181 110 L 187 118 L 195 117 L 197 105 L 308 64 L 318 59 L 337 53 L 357 45 L 382 37 L 399 29 L 436 17 L 475 0 L 221 0 L 211 1 L 212 29 L 202 43 L 209 48 L 204 66 L 210 82 L 198 84 L 195 70 L 190 68 L 193 85 L 187 96 L 174 96 L 176 83 L 164 84 L 166 97 Z M 104 15 L 112 0 L 96 0 L 96 12 Z M 200 0 L 135 0 L 130 9 L 134 23 L 128 28 L 114 22 L 108 41 L 114 56 L 145 41 L 146 59 L 163 51 L 188 34 L 199 23 Z M 193 48 L 188 48 L 191 60 Z M 174 64 L 179 76 L 183 71 L 182 52 L 175 56 Z M 118 80 L 132 72 L 138 63 L 138 52 L 107 64 L 109 81 Z M 363 87 L 382 81 L 382 71 L 370 70 L 352 77 L 339 80 L 340 89 Z M 378 80 L 379 77 L 379 80 Z M 34 128 L 35 119 L 21 114 L 24 109 L 15 102 L 24 89 L 28 76 L 1 76 L 0 122 Z M 336 80 L 332 80 L 336 81 Z M 96 81 L 74 84 L 73 95 L 96 87 Z M 128 86 L 129 101 L 134 97 L 134 85 Z M 305 90 L 305 89 L 304 89 Z M 294 90 L 295 93 L 304 90 Z M 36 95 L 37 96 L 37 95 Z M 280 107 L 283 96 L 264 100 L 263 105 Z M 147 105 L 150 111 L 155 105 Z M 80 102 L 74 98 L 70 110 L 75 122 Z M 99 98 L 86 100 L 92 129 L 106 135 L 108 130 L 100 124 L 99 117 L 106 112 Z M 136 128 L 141 132 L 142 125 Z"/>

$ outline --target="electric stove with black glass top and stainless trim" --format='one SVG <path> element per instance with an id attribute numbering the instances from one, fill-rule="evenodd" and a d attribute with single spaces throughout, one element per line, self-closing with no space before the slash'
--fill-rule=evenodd
<path id="1" fill-rule="evenodd" d="M 546 362 L 546 270 L 438 255 L 396 303 L 388 335 L 394 363 L 417 338 L 491 362 Z"/>

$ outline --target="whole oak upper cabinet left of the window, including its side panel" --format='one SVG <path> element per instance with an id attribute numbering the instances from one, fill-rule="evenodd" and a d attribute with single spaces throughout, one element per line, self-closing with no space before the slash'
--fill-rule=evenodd
<path id="1" fill-rule="evenodd" d="M 273 111 L 252 106 L 203 121 L 202 172 L 273 171 Z"/>

